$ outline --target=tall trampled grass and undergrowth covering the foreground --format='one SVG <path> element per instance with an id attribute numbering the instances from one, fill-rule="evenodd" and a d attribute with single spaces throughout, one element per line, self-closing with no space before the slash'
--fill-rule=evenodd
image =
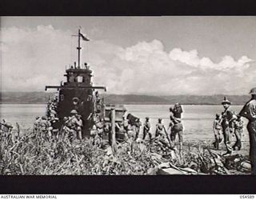
<path id="1" fill-rule="evenodd" d="M 181 154 L 158 142 L 134 142 L 133 138 L 118 143 L 114 151 L 106 141 L 94 138 L 70 142 L 46 137 L 44 132 L 19 136 L 2 133 L 0 137 L 0 174 L 18 175 L 144 175 L 171 174 L 248 174 L 239 168 L 246 158 L 220 158 L 200 144 L 186 144 Z M 226 165 L 228 163 L 228 165 Z"/>

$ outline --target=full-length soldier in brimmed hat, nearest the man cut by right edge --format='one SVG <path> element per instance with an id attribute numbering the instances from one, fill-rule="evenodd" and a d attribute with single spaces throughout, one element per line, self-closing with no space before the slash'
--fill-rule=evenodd
<path id="1" fill-rule="evenodd" d="M 222 106 L 224 107 L 224 111 L 222 112 L 222 131 L 224 136 L 224 143 L 226 146 L 226 153 L 223 155 L 232 154 L 232 146 L 231 146 L 231 134 L 230 130 L 232 129 L 232 122 L 237 118 L 234 114 L 234 111 L 230 109 L 231 102 L 224 97 L 222 101 Z"/>

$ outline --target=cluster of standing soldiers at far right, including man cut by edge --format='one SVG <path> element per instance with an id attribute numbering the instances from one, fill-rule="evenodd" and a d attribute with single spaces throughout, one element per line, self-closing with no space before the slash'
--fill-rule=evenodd
<path id="1" fill-rule="evenodd" d="M 214 136 L 215 142 L 214 146 L 216 149 L 219 147 L 219 143 L 222 142 L 226 146 L 225 155 L 232 154 L 232 150 L 241 150 L 242 147 L 242 133 L 243 133 L 243 121 L 242 117 L 248 120 L 247 130 L 249 133 L 250 139 L 250 163 L 252 174 L 256 175 L 256 87 L 250 90 L 251 98 L 246 102 L 245 106 L 242 107 L 242 110 L 235 114 L 231 110 L 231 102 L 224 98 L 222 101 L 222 106 L 224 111 L 222 114 L 216 114 L 214 120 Z M 234 134 L 236 142 L 234 146 L 231 146 L 231 136 Z"/>

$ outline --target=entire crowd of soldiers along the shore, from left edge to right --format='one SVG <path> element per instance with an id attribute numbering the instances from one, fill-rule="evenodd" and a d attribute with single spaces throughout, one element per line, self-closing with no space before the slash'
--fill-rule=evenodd
<path id="1" fill-rule="evenodd" d="M 222 101 L 224 110 L 222 114 L 216 114 L 214 120 L 214 147 L 218 150 L 220 142 L 223 141 L 226 146 L 226 153 L 223 154 L 224 156 L 232 154 L 233 150 L 241 150 L 241 138 L 243 133 L 242 117 L 247 118 L 248 124 L 246 127 L 250 138 L 250 162 L 252 166 L 252 174 L 256 174 L 256 88 L 250 90 L 250 94 L 250 101 L 246 102 L 246 105 L 243 106 L 238 114 L 230 108 L 231 102 L 227 98 L 224 98 Z M 37 117 L 34 122 L 34 130 L 42 130 L 39 132 L 45 133 L 48 138 L 54 138 L 53 124 L 58 121 L 58 116 L 56 114 L 57 102 L 58 100 L 54 98 L 54 101 L 48 106 L 48 117 Z M 99 118 L 97 114 L 92 117 L 94 118 L 94 125 L 90 131 L 91 136 L 93 136 L 95 140 L 98 139 L 98 141 L 101 141 L 103 134 L 109 133 L 108 135 L 110 136 L 112 129 L 111 123 L 104 122 L 104 119 Z M 0 126 L 0 131 L 10 132 L 12 130 L 12 126 L 5 121 L 2 121 Z M 82 126 L 82 116 L 78 114 L 77 110 L 71 110 L 70 116 L 63 118 L 62 130 L 65 130 L 64 132 L 66 135 L 62 135 L 62 137 L 67 137 L 70 140 L 77 138 L 82 139 Z M 145 122 L 142 124 L 139 118 L 135 118 L 134 122 L 131 122 L 129 117 L 123 116 L 122 122 L 115 123 L 115 132 L 125 135 L 125 138 L 132 138 L 134 141 L 145 141 L 148 135 L 150 142 L 162 142 L 163 145 L 172 148 L 174 147 L 175 139 L 178 135 L 179 150 L 182 150 L 182 106 L 179 103 L 176 103 L 174 107 L 170 107 L 170 124 L 167 129 L 162 123 L 162 118 L 158 118 L 154 135 L 152 134 L 149 117 L 146 117 Z M 141 132 L 142 137 L 139 137 Z M 236 142 L 231 146 L 231 136 L 233 134 L 236 138 Z"/>

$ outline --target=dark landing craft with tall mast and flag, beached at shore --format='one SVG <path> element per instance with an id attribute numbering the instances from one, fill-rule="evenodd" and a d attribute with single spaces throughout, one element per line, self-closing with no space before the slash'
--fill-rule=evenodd
<path id="1" fill-rule="evenodd" d="M 100 98 L 98 90 L 106 91 L 106 86 L 94 86 L 91 80 L 93 75 L 90 66 L 86 62 L 83 65 L 80 63 L 81 38 L 86 42 L 90 40 L 80 32 L 80 29 L 78 34 L 74 36 L 78 37 L 78 65 L 74 62 L 74 66 L 70 66 L 66 70 L 64 75 L 66 76 L 66 82 L 62 82 L 60 86 L 46 86 L 45 90 L 58 90 L 55 98 L 48 102 L 46 116 L 50 117 L 54 112 L 58 120 L 54 122 L 53 126 L 60 129 L 64 118 L 70 116 L 70 111 L 77 110 L 78 114 L 82 116 L 82 135 L 83 137 L 89 137 L 95 118 L 110 122 L 110 110 L 115 109 L 115 121 L 121 122 L 126 109 L 123 106 L 106 105 L 104 98 Z"/>

